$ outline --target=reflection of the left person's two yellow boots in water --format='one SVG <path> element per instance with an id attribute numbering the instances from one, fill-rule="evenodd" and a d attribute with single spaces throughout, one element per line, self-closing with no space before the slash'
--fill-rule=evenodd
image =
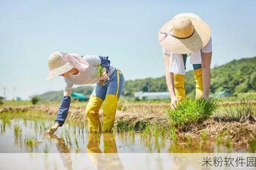
<path id="1" fill-rule="evenodd" d="M 113 133 L 103 133 L 104 153 L 100 149 L 101 134 L 89 133 L 87 153 L 98 170 L 122 170 Z"/>

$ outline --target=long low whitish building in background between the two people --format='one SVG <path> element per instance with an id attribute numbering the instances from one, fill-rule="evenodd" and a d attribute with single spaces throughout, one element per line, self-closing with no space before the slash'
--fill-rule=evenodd
<path id="1" fill-rule="evenodd" d="M 149 100 L 149 99 L 169 99 L 169 92 L 143 92 L 137 91 L 134 93 L 134 97 L 140 100 Z"/>

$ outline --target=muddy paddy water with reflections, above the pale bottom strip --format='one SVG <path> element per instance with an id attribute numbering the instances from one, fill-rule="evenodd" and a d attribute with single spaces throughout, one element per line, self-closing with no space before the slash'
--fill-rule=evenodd
<path id="1" fill-rule="evenodd" d="M 165 136 L 126 133 L 88 133 L 86 127 L 64 124 L 51 136 L 52 121 L 12 119 L 0 122 L 0 153 L 234 153 L 212 141 L 172 141 Z M 16 130 L 15 127 L 19 127 Z M 20 130 L 21 129 L 21 130 Z"/>

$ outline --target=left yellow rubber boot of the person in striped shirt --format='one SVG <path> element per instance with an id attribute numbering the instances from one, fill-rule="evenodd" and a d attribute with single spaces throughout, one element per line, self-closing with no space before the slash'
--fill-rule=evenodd
<path id="1" fill-rule="evenodd" d="M 103 100 L 99 97 L 90 96 L 89 102 L 86 106 L 86 115 L 89 123 L 90 132 L 100 132 L 101 123 L 99 120 L 99 108 L 102 105 Z"/>

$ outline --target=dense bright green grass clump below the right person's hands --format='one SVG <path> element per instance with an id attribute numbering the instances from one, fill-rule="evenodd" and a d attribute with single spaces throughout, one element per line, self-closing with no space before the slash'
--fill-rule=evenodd
<path id="1" fill-rule="evenodd" d="M 172 126 L 183 130 L 191 124 L 203 122 L 218 108 L 218 99 L 186 99 L 176 109 L 168 109 Z"/>

